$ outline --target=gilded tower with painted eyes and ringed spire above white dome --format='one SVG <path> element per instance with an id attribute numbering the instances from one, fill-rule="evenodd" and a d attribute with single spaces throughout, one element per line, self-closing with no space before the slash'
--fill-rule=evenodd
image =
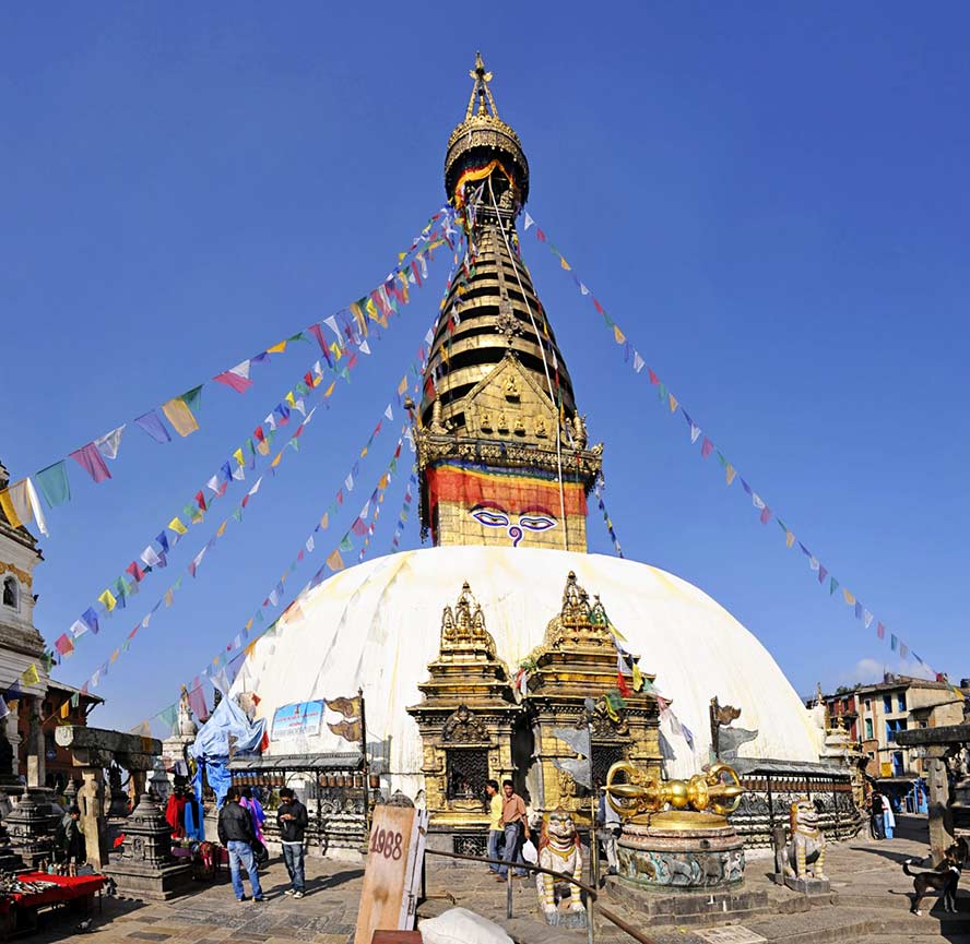
<path id="1" fill-rule="evenodd" d="M 431 343 L 418 413 L 421 517 L 435 545 L 587 550 L 587 497 L 602 465 L 529 270 L 516 220 L 529 195 L 518 134 L 476 57 L 445 188 L 468 252 Z"/>

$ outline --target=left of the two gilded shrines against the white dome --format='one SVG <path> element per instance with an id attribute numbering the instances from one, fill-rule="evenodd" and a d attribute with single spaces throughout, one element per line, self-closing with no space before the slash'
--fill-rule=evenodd
<path id="1" fill-rule="evenodd" d="M 445 607 L 438 658 L 424 695 L 409 708 L 424 745 L 423 773 L 433 832 L 487 829 L 485 781 L 512 773 L 511 730 L 519 706 L 505 664 L 468 583 L 454 608 Z"/>

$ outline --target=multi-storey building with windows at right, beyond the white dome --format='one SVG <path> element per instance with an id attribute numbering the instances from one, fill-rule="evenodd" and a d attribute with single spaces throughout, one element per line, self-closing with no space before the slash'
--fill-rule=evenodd
<path id="1" fill-rule="evenodd" d="M 970 680 L 961 690 L 970 694 Z M 915 779 L 925 773 L 919 751 L 897 743 L 900 731 L 937 728 L 963 720 L 965 701 L 947 682 L 896 676 L 887 672 L 882 682 L 856 685 L 824 695 L 833 722 L 842 718 L 853 740 L 868 756 L 866 774 L 875 778 Z"/>

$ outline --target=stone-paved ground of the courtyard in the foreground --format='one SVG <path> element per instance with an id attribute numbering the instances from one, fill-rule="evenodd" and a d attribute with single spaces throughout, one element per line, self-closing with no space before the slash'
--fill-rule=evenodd
<path id="1" fill-rule="evenodd" d="M 702 923 L 661 923 L 630 910 L 614 900 L 602 900 L 623 918 L 640 928 L 656 944 L 705 944 L 709 929 L 731 932 L 744 940 L 747 929 L 756 937 L 749 941 L 864 942 L 897 944 L 915 941 L 935 944 L 970 944 L 970 892 L 958 896 L 959 913 L 945 916 L 942 903 L 927 897 L 923 917 L 909 913 L 908 893 L 912 880 L 901 869 L 903 859 L 920 859 L 927 851 L 924 817 L 899 817 L 896 839 L 875 843 L 861 837 L 830 847 L 826 871 L 832 879 L 832 901 L 809 903 L 803 896 L 768 882 L 768 859 L 752 859 L 746 886 L 767 891 L 769 901 L 757 913 L 700 916 Z M 95 906 L 94 923 L 88 933 L 78 933 L 78 916 L 51 915 L 32 940 L 38 944 L 90 942 L 90 944 L 346 944 L 353 940 L 360 895 L 360 865 L 320 859 L 307 860 L 308 895 L 294 901 L 283 895 L 286 873 L 274 860 L 262 877 L 268 899 L 264 904 L 238 904 L 226 874 L 214 885 L 199 885 L 198 891 L 164 905 L 105 898 L 104 910 Z M 506 920 L 506 888 L 483 869 L 452 867 L 446 860 L 428 858 L 427 900 L 419 913 L 440 913 L 452 903 L 502 924 L 519 944 L 583 944 L 584 931 L 547 928 L 537 920 L 534 880 L 517 880 L 513 889 L 513 917 Z M 932 910 L 931 910 L 932 909 Z M 694 920 L 691 919 L 684 919 Z M 598 921 L 598 941 L 604 944 L 630 942 L 631 939 L 605 921 Z"/>

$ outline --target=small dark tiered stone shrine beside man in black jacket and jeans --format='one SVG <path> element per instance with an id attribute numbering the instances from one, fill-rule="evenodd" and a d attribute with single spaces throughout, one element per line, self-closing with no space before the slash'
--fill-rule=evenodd
<path id="1" fill-rule="evenodd" d="M 167 901 L 191 884 L 192 867 L 171 855 L 171 827 L 151 794 L 129 813 L 121 853 L 103 871 L 121 895 L 145 901 Z"/>

